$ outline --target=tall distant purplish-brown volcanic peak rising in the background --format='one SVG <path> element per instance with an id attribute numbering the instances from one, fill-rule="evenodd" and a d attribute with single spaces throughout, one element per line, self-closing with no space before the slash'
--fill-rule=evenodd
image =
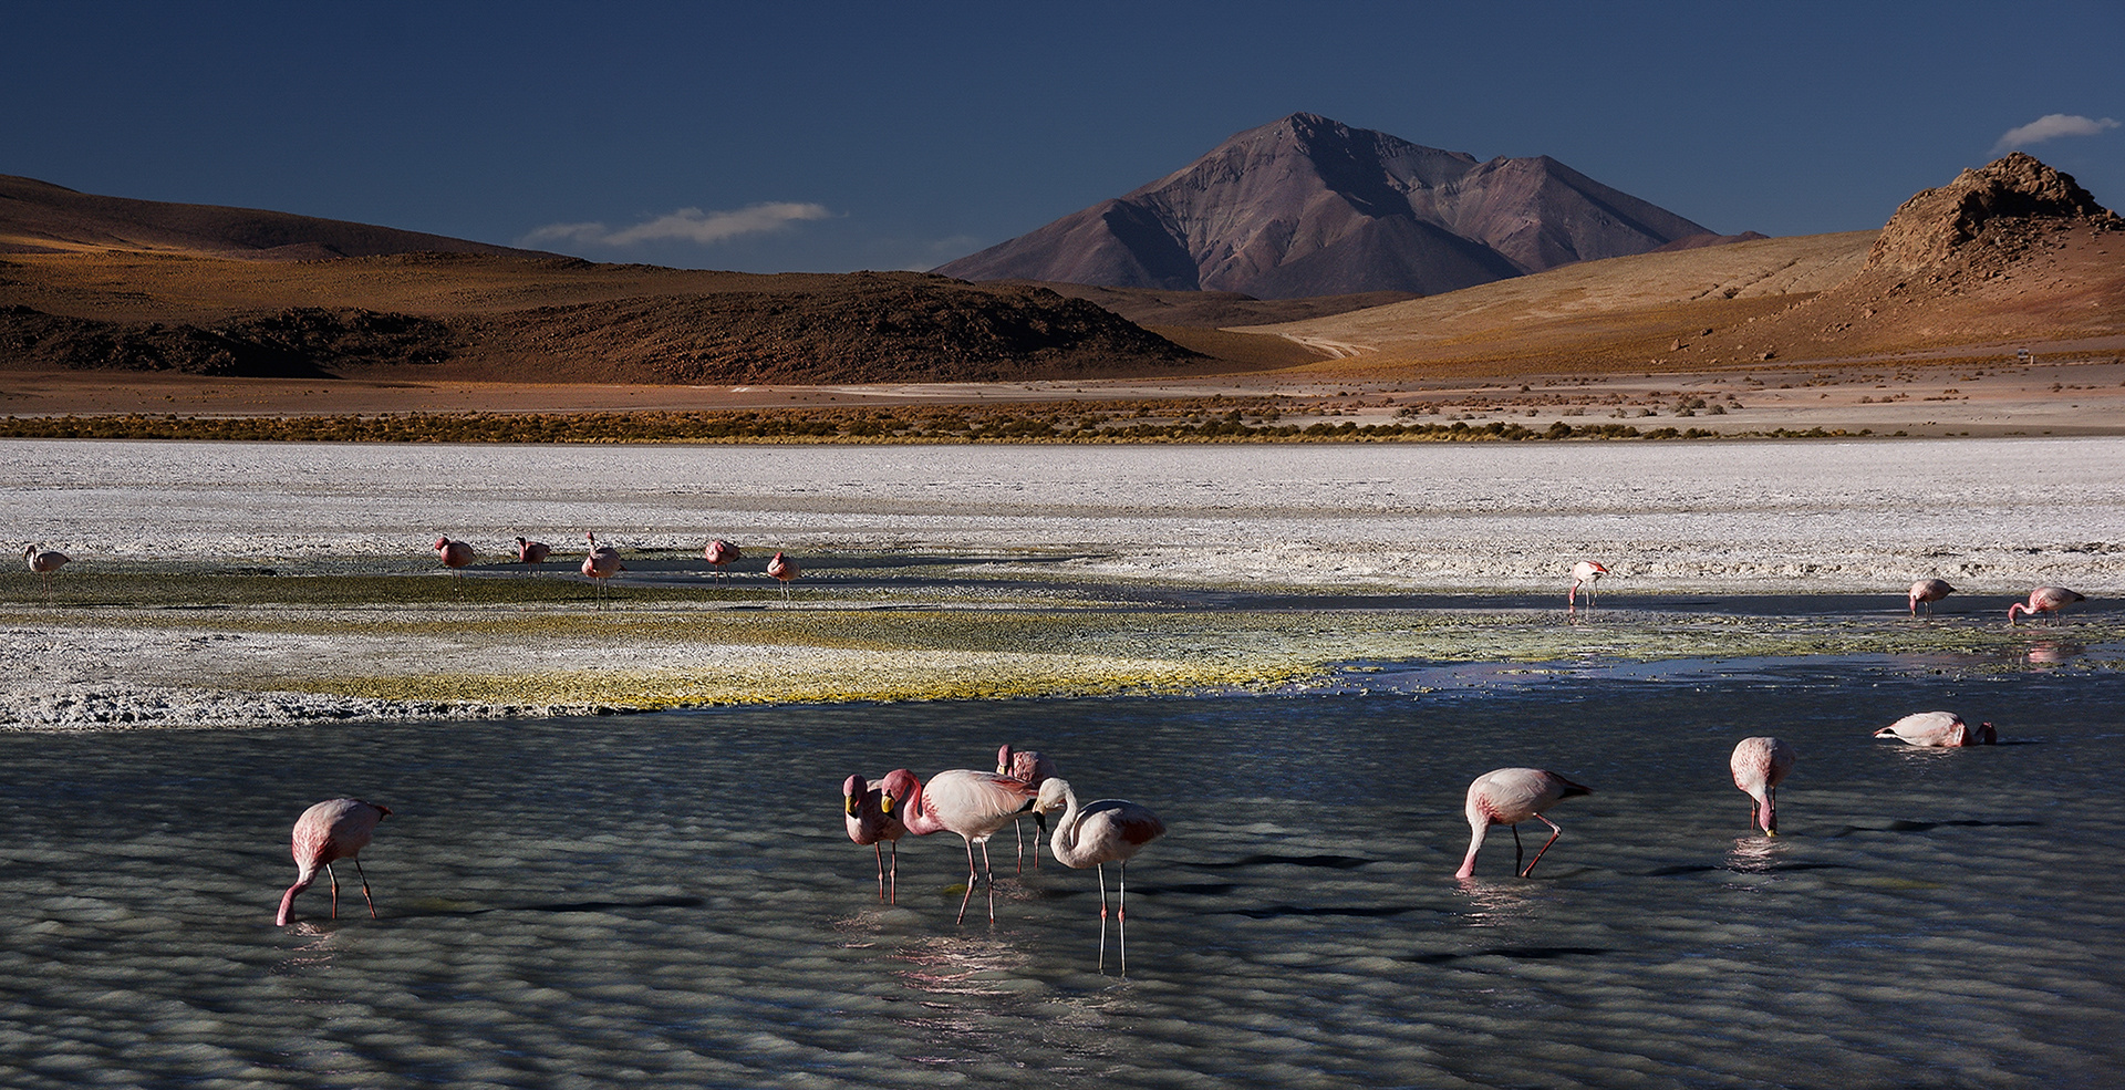
<path id="1" fill-rule="evenodd" d="M 1430 295 L 1711 234 L 1547 155 L 1477 161 L 1296 113 L 937 272 L 1266 300 Z"/>

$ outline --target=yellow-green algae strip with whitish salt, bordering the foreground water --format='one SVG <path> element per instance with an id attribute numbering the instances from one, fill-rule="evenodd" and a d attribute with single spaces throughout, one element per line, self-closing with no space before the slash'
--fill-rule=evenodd
<path id="1" fill-rule="evenodd" d="M 1305 691 L 1392 663 L 1898 657 L 1915 671 L 2121 669 L 2125 625 L 1993 616 L 1604 608 L 1354 608 L 1332 595 L 1226 610 L 1124 586 L 922 582 L 774 591 L 574 578 L 96 572 L 47 597 L 0 580 L 28 676 L 450 705 L 463 714 L 727 703 Z M 60 582 L 60 580 L 55 580 Z M 463 584 L 463 586 L 459 586 Z M 1292 601 L 1286 597 L 1284 601 Z M 26 650 L 28 648 L 28 650 Z"/>

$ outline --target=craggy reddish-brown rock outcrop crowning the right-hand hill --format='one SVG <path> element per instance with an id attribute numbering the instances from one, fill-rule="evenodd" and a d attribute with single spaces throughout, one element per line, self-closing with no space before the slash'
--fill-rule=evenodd
<path id="1" fill-rule="evenodd" d="M 2032 223 L 2034 221 L 2034 223 Z M 1917 272 L 1961 255 L 1972 242 L 2012 234 L 2017 227 L 2085 221 L 2119 229 L 2119 215 L 2095 204 L 2087 189 L 2032 155 L 2014 151 L 1980 170 L 1964 170 L 1949 185 L 1906 200 L 1868 253 L 1866 268 Z M 2010 242 L 2010 240 L 2000 240 Z"/>

